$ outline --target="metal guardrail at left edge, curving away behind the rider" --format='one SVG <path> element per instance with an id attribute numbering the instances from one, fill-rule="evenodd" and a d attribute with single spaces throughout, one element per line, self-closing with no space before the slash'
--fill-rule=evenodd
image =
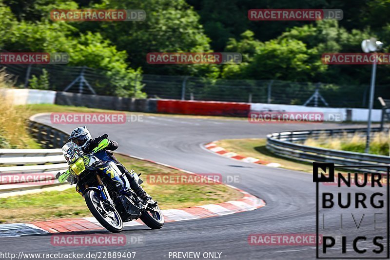
<path id="1" fill-rule="evenodd" d="M 29 131 L 45 149 L 0 149 L 1 197 L 59 185 L 56 174 L 68 167 L 56 149 L 67 142 L 68 134 L 33 119 Z"/>

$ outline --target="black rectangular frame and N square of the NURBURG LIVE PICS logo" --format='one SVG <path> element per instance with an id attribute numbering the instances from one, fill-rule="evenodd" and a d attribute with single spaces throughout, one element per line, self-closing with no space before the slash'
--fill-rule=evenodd
<path id="1" fill-rule="evenodd" d="M 372 257 L 319 257 L 318 252 L 318 199 L 319 199 L 319 182 L 334 182 L 334 163 L 331 162 L 313 162 L 313 182 L 315 182 L 315 237 L 316 237 L 316 259 L 389 259 L 390 258 L 390 205 L 389 205 L 389 199 L 390 199 L 390 186 L 389 186 L 389 177 L 390 177 L 390 166 L 387 165 L 378 165 L 378 166 L 367 166 L 367 165 L 343 165 L 342 168 L 384 168 L 386 169 L 386 177 L 387 177 L 387 257 L 378 257 L 378 258 L 372 258 Z M 321 172 L 320 172 L 320 171 Z M 318 176 L 318 173 L 321 173 L 320 176 Z M 367 171 L 362 171 L 367 172 Z M 322 174 L 327 173 L 328 176 Z M 368 173 L 370 174 L 370 173 Z"/>

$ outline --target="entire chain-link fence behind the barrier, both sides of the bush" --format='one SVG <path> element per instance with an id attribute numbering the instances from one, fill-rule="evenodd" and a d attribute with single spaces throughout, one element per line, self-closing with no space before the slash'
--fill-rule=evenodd
<path id="1" fill-rule="evenodd" d="M 89 84 L 98 95 L 114 95 L 112 80 L 103 70 L 55 64 L 12 64 L 6 67 L 9 73 L 18 76 L 18 87 L 29 87 L 29 79 L 32 75 L 39 76 L 43 68 L 49 74 L 52 90 L 92 94 Z M 84 81 L 80 79 L 81 76 Z M 369 82 L 367 85 L 337 85 L 319 82 L 224 80 L 143 74 L 136 78 L 135 84 L 143 85 L 142 91 L 149 98 L 178 100 L 367 107 L 369 96 Z M 389 90 L 390 85 L 377 85 L 375 97 L 390 99 Z M 375 102 L 375 107 L 380 108 L 379 102 Z"/>

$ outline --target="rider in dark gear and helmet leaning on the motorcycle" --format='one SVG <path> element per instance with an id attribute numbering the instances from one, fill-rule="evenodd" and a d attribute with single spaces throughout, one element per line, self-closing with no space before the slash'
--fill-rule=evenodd
<path id="1" fill-rule="evenodd" d="M 92 138 L 91 134 L 87 130 L 87 127 L 83 126 L 73 130 L 68 140 L 76 143 L 84 153 L 91 154 L 94 148 L 98 147 L 99 142 L 104 139 L 108 140 L 108 134 L 104 134 L 97 138 Z M 138 181 L 134 178 L 134 176 L 130 174 L 130 172 L 125 168 L 125 166 L 120 163 L 117 158 L 115 158 L 112 152 L 110 152 L 118 148 L 118 143 L 113 140 L 109 140 L 108 142 L 109 145 L 103 150 L 100 150 L 95 153 L 94 156 L 96 156 L 99 160 L 113 161 L 117 165 L 119 170 L 127 176 L 127 179 L 130 181 L 130 188 L 137 194 L 137 196 L 143 201 L 149 199 L 152 200 L 152 197 L 142 189 L 142 186 L 139 185 Z"/>

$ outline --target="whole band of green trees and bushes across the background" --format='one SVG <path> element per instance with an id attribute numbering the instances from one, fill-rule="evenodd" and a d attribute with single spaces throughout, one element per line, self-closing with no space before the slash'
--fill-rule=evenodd
<path id="1" fill-rule="evenodd" d="M 144 21 L 54 22 L 53 9 L 143 9 Z M 344 19 L 251 21 L 252 8 L 337 8 Z M 389 0 L 0 0 L 0 48 L 20 52 L 67 52 L 70 66 L 101 71 L 91 82 L 98 94 L 146 97 L 142 73 L 216 79 L 290 80 L 333 83 L 335 95 L 362 100 L 370 66 L 325 65 L 329 52 L 361 52 L 363 39 L 377 37 L 390 49 Z M 148 64 L 149 52 L 239 52 L 241 64 Z M 65 66 L 65 65 L 64 65 Z M 38 80 L 38 79 L 32 79 Z M 390 67 L 377 70 L 387 84 Z M 214 82 L 214 83 L 213 83 Z M 335 85 L 348 85 L 337 87 Z M 51 85 L 50 88 L 55 88 Z M 296 88 L 291 87 L 291 90 Z M 228 95 L 236 95 L 236 92 Z M 291 92 L 293 94 L 293 92 Z M 377 92 L 387 97 L 388 92 Z M 329 96 L 328 96 L 329 97 Z M 389 97 L 388 97 L 389 98 Z M 293 97 L 292 103 L 302 100 Z M 341 105 L 341 104 L 340 104 Z"/>

